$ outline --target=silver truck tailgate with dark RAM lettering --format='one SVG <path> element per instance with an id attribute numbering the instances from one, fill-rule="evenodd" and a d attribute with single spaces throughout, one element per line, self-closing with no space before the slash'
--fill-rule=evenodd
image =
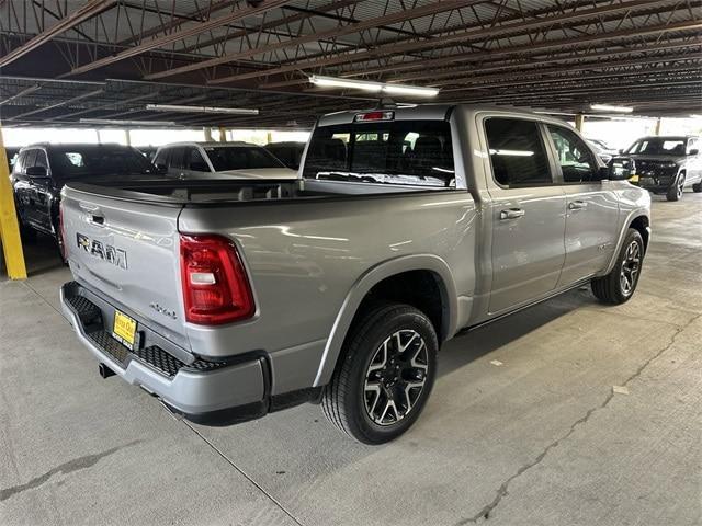
<path id="1" fill-rule="evenodd" d="M 189 348 L 180 279 L 179 205 L 120 201 L 66 186 L 66 255 L 77 281 Z"/>

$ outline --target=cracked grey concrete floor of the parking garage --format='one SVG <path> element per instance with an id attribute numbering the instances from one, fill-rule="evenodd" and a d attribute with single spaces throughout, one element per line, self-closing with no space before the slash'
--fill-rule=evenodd
<path id="1" fill-rule="evenodd" d="M 0 283 L 0 524 L 702 522 L 702 194 L 655 197 L 627 305 L 575 290 L 445 345 L 422 418 L 383 447 L 315 405 L 207 428 L 102 380 L 50 254 Z"/>

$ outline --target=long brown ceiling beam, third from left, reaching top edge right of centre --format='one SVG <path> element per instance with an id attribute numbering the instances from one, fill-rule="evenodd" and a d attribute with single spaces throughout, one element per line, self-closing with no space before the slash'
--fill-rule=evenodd
<path id="1" fill-rule="evenodd" d="M 295 47 L 310 42 L 324 41 L 326 38 L 338 38 L 340 36 L 350 35 L 353 33 L 361 33 L 365 30 L 377 27 L 381 25 L 397 24 L 414 19 L 420 19 L 422 16 L 430 16 L 445 11 L 464 8 L 469 3 L 479 3 L 485 0 L 444 0 L 442 2 L 430 3 L 421 5 L 415 9 L 407 9 L 403 11 L 396 11 L 385 16 L 378 16 L 375 19 L 365 20 L 363 22 L 353 22 L 347 25 L 340 25 L 329 31 L 322 31 L 317 33 L 310 33 L 308 35 L 298 36 L 283 42 L 276 42 L 274 44 L 268 44 L 261 47 L 253 47 L 245 52 L 225 54 L 220 57 L 211 58 L 210 60 L 202 60 L 199 62 L 189 64 L 179 68 L 167 69 L 157 73 L 147 75 L 145 80 L 162 79 L 165 77 L 172 77 L 174 75 L 188 73 L 190 71 L 196 71 L 199 69 L 211 68 L 220 64 L 233 62 L 236 60 L 242 60 L 256 55 L 263 55 L 265 53 L 274 52 L 278 49 L 284 49 L 286 47 Z M 647 0 L 648 1 L 648 0 Z"/>

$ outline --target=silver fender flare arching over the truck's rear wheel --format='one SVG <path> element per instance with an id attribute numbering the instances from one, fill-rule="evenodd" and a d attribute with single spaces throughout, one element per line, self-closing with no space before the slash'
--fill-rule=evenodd
<path id="1" fill-rule="evenodd" d="M 451 268 L 446 262 L 433 254 L 401 255 L 386 260 L 362 274 L 347 294 L 327 339 L 314 387 L 324 386 L 331 379 L 333 369 L 337 366 L 337 359 L 341 353 L 341 346 L 351 327 L 351 321 L 369 291 L 383 279 L 409 271 L 430 271 L 439 276 L 442 282 L 439 283 L 439 286 L 443 288 L 444 320 L 448 320 L 448 323 L 443 323 L 446 331 L 444 338 L 450 338 L 456 332 L 458 296 Z"/>

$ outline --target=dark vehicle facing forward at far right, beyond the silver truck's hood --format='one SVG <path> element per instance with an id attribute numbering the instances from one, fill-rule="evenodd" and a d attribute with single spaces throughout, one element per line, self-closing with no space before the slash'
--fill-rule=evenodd
<path id="1" fill-rule="evenodd" d="M 654 194 L 666 194 L 678 201 L 682 191 L 692 186 L 702 192 L 702 156 L 699 137 L 643 137 L 626 149 L 636 161 L 636 175 L 631 182 Z"/>

